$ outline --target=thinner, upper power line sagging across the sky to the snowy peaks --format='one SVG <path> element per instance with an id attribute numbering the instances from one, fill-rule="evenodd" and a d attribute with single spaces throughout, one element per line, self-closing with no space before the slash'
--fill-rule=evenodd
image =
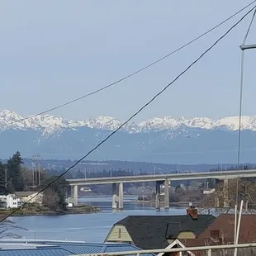
<path id="1" fill-rule="evenodd" d="M 0 126 L 0 128 L 3 127 L 3 126 L 11 126 L 11 125 L 13 125 L 13 124 L 15 124 L 15 123 L 17 123 L 17 122 L 26 121 L 26 120 L 31 119 L 31 118 L 36 117 L 36 116 L 44 115 L 44 114 L 46 114 L 46 113 L 48 113 L 48 112 L 50 112 L 50 111 L 55 111 L 56 109 L 59 109 L 59 108 L 61 108 L 61 107 L 65 107 L 65 106 L 68 106 L 68 105 L 70 105 L 70 104 L 72 104 L 72 103 L 74 103 L 74 102 L 78 102 L 78 101 L 82 100 L 83 98 L 90 97 L 90 96 L 92 96 L 93 94 L 96 94 L 97 92 L 101 92 L 101 91 L 103 91 L 103 90 L 105 90 L 105 89 L 107 89 L 107 88 L 111 88 L 112 86 L 116 85 L 116 83 L 121 83 L 122 81 L 124 81 L 124 80 L 126 80 L 126 79 L 128 79 L 128 78 L 130 78 L 130 77 L 135 76 L 135 74 L 140 73 L 140 72 L 144 71 L 145 69 L 149 69 L 151 66 L 154 66 L 154 64 L 158 64 L 160 61 L 162 61 L 162 60 L 164 60 L 164 59 L 167 59 L 169 56 L 175 54 L 175 53 L 178 52 L 179 50 L 182 50 L 183 48 L 187 47 L 188 45 L 191 45 L 193 42 L 195 42 L 195 41 L 201 39 L 201 37 L 206 36 L 206 35 L 209 34 L 211 31 L 216 30 L 216 28 L 218 28 L 219 26 L 221 26 L 221 25 L 224 24 L 225 22 L 230 21 L 231 18 L 235 17 L 235 16 L 238 15 L 240 12 L 243 12 L 245 9 L 247 9 L 248 7 L 250 7 L 251 5 L 253 5 L 254 2 L 256 2 L 256 0 L 254 0 L 253 2 L 250 2 L 247 6 L 243 7 L 243 8 L 240 9 L 238 12 L 235 12 L 233 15 L 231 15 L 231 16 L 228 17 L 228 18 L 226 18 L 224 21 L 221 21 L 218 25 L 212 27 L 210 30 L 204 32 L 203 34 L 201 34 L 201 36 L 197 36 L 197 37 L 194 38 L 193 40 L 189 41 L 187 44 L 182 45 L 182 46 L 179 47 L 178 49 L 173 50 L 172 52 L 170 52 L 170 53 L 168 53 L 167 55 L 164 55 L 163 57 L 161 57 L 160 59 L 157 59 L 157 60 L 155 60 L 154 62 L 152 62 L 152 63 L 146 65 L 145 67 L 143 67 L 143 68 L 141 68 L 141 69 L 138 69 L 138 70 L 135 71 L 134 73 L 130 73 L 130 74 L 126 75 L 126 77 L 123 77 L 123 78 L 120 78 L 120 79 L 116 80 L 116 82 L 110 83 L 110 84 L 108 84 L 107 86 L 104 86 L 104 87 L 102 87 L 102 88 L 99 88 L 99 89 L 97 89 L 97 90 L 95 90 L 95 91 L 93 91 L 93 92 L 89 92 L 88 94 L 83 95 L 83 96 L 81 96 L 81 97 L 77 97 L 77 98 L 73 99 L 72 101 L 65 102 L 65 103 L 60 104 L 60 105 L 58 105 L 58 106 L 56 106 L 56 107 L 49 108 L 49 109 L 47 109 L 47 110 L 45 110 L 45 111 L 40 111 L 40 112 L 38 112 L 38 113 L 36 113 L 36 114 L 34 114 L 34 115 L 31 115 L 31 116 L 26 116 L 26 117 L 24 117 L 24 118 L 21 118 L 20 120 L 12 121 L 12 122 L 10 122 L 10 123 L 8 123 L 8 124 L 4 124 L 4 125 Z"/>

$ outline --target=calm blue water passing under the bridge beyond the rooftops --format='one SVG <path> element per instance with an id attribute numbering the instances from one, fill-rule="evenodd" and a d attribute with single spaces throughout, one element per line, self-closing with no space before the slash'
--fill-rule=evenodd
<path id="1" fill-rule="evenodd" d="M 28 229 L 15 230 L 26 239 L 69 239 L 101 243 L 107 236 L 111 226 L 129 215 L 179 215 L 184 208 L 170 208 L 168 212 L 161 209 L 155 211 L 147 204 L 137 204 L 136 197 L 124 198 L 124 211 L 111 211 L 111 197 L 86 197 L 79 201 L 92 206 L 99 206 L 102 212 L 69 216 L 26 216 L 12 217 L 10 220 Z"/>

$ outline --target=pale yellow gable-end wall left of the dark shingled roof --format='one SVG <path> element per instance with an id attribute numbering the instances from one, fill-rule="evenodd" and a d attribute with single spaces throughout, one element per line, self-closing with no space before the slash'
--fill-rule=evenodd
<path id="1" fill-rule="evenodd" d="M 123 225 L 115 225 L 111 228 L 105 242 L 126 242 L 133 244 L 133 241 Z"/>

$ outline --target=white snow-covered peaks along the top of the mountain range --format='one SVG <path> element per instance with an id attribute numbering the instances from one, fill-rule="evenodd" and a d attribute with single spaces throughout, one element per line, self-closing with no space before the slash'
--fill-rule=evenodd
<path id="1" fill-rule="evenodd" d="M 25 117 L 9 110 L 0 111 L 0 130 L 42 130 L 44 134 L 52 134 L 63 129 L 76 130 L 78 127 L 96 128 L 102 130 L 115 130 L 121 126 L 121 121 L 116 120 L 111 116 L 97 116 L 84 121 L 72 121 L 61 117 L 50 115 L 33 116 L 26 120 Z M 22 121 L 23 120 L 23 121 Z M 181 127 L 187 126 L 189 128 L 201 129 L 217 129 L 226 128 L 227 130 L 239 129 L 239 116 L 230 116 L 213 120 L 208 117 L 195 117 L 186 119 L 180 117 L 174 119 L 171 116 L 164 118 L 154 117 L 148 121 L 141 121 L 139 123 L 132 122 L 124 127 L 130 133 L 140 133 L 142 131 L 151 130 L 177 130 Z M 242 130 L 256 130 L 256 116 L 242 117 Z"/>

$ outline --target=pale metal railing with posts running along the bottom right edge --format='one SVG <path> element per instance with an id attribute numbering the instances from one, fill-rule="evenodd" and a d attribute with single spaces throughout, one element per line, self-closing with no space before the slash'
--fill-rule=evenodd
<path id="1" fill-rule="evenodd" d="M 115 253 L 102 253 L 102 254 L 79 254 L 80 256 L 121 256 L 121 255 L 136 255 L 140 256 L 140 254 L 171 254 L 171 253 L 180 253 L 182 255 L 183 252 L 199 252 L 205 251 L 207 256 L 213 256 L 214 251 L 227 250 L 227 249 L 252 249 L 256 247 L 256 244 L 225 244 L 225 245 L 213 245 L 213 246 L 199 246 L 199 247 L 185 247 L 185 248 L 173 248 L 173 249 L 147 249 L 147 250 L 136 250 L 136 251 L 121 251 Z M 233 253 L 234 254 L 234 251 Z M 174 255 L 174 254 L 173 254 Z M 178 255 L 178 254 L 177 254 Z M 221 254 L 215 254 L 221 255 Z M 226 255 L 226 254 L 223 254 Z M 250 255 L 250 254 L 244 254 Z M 251 254 L 255 255 L 255 254 Z"/>

